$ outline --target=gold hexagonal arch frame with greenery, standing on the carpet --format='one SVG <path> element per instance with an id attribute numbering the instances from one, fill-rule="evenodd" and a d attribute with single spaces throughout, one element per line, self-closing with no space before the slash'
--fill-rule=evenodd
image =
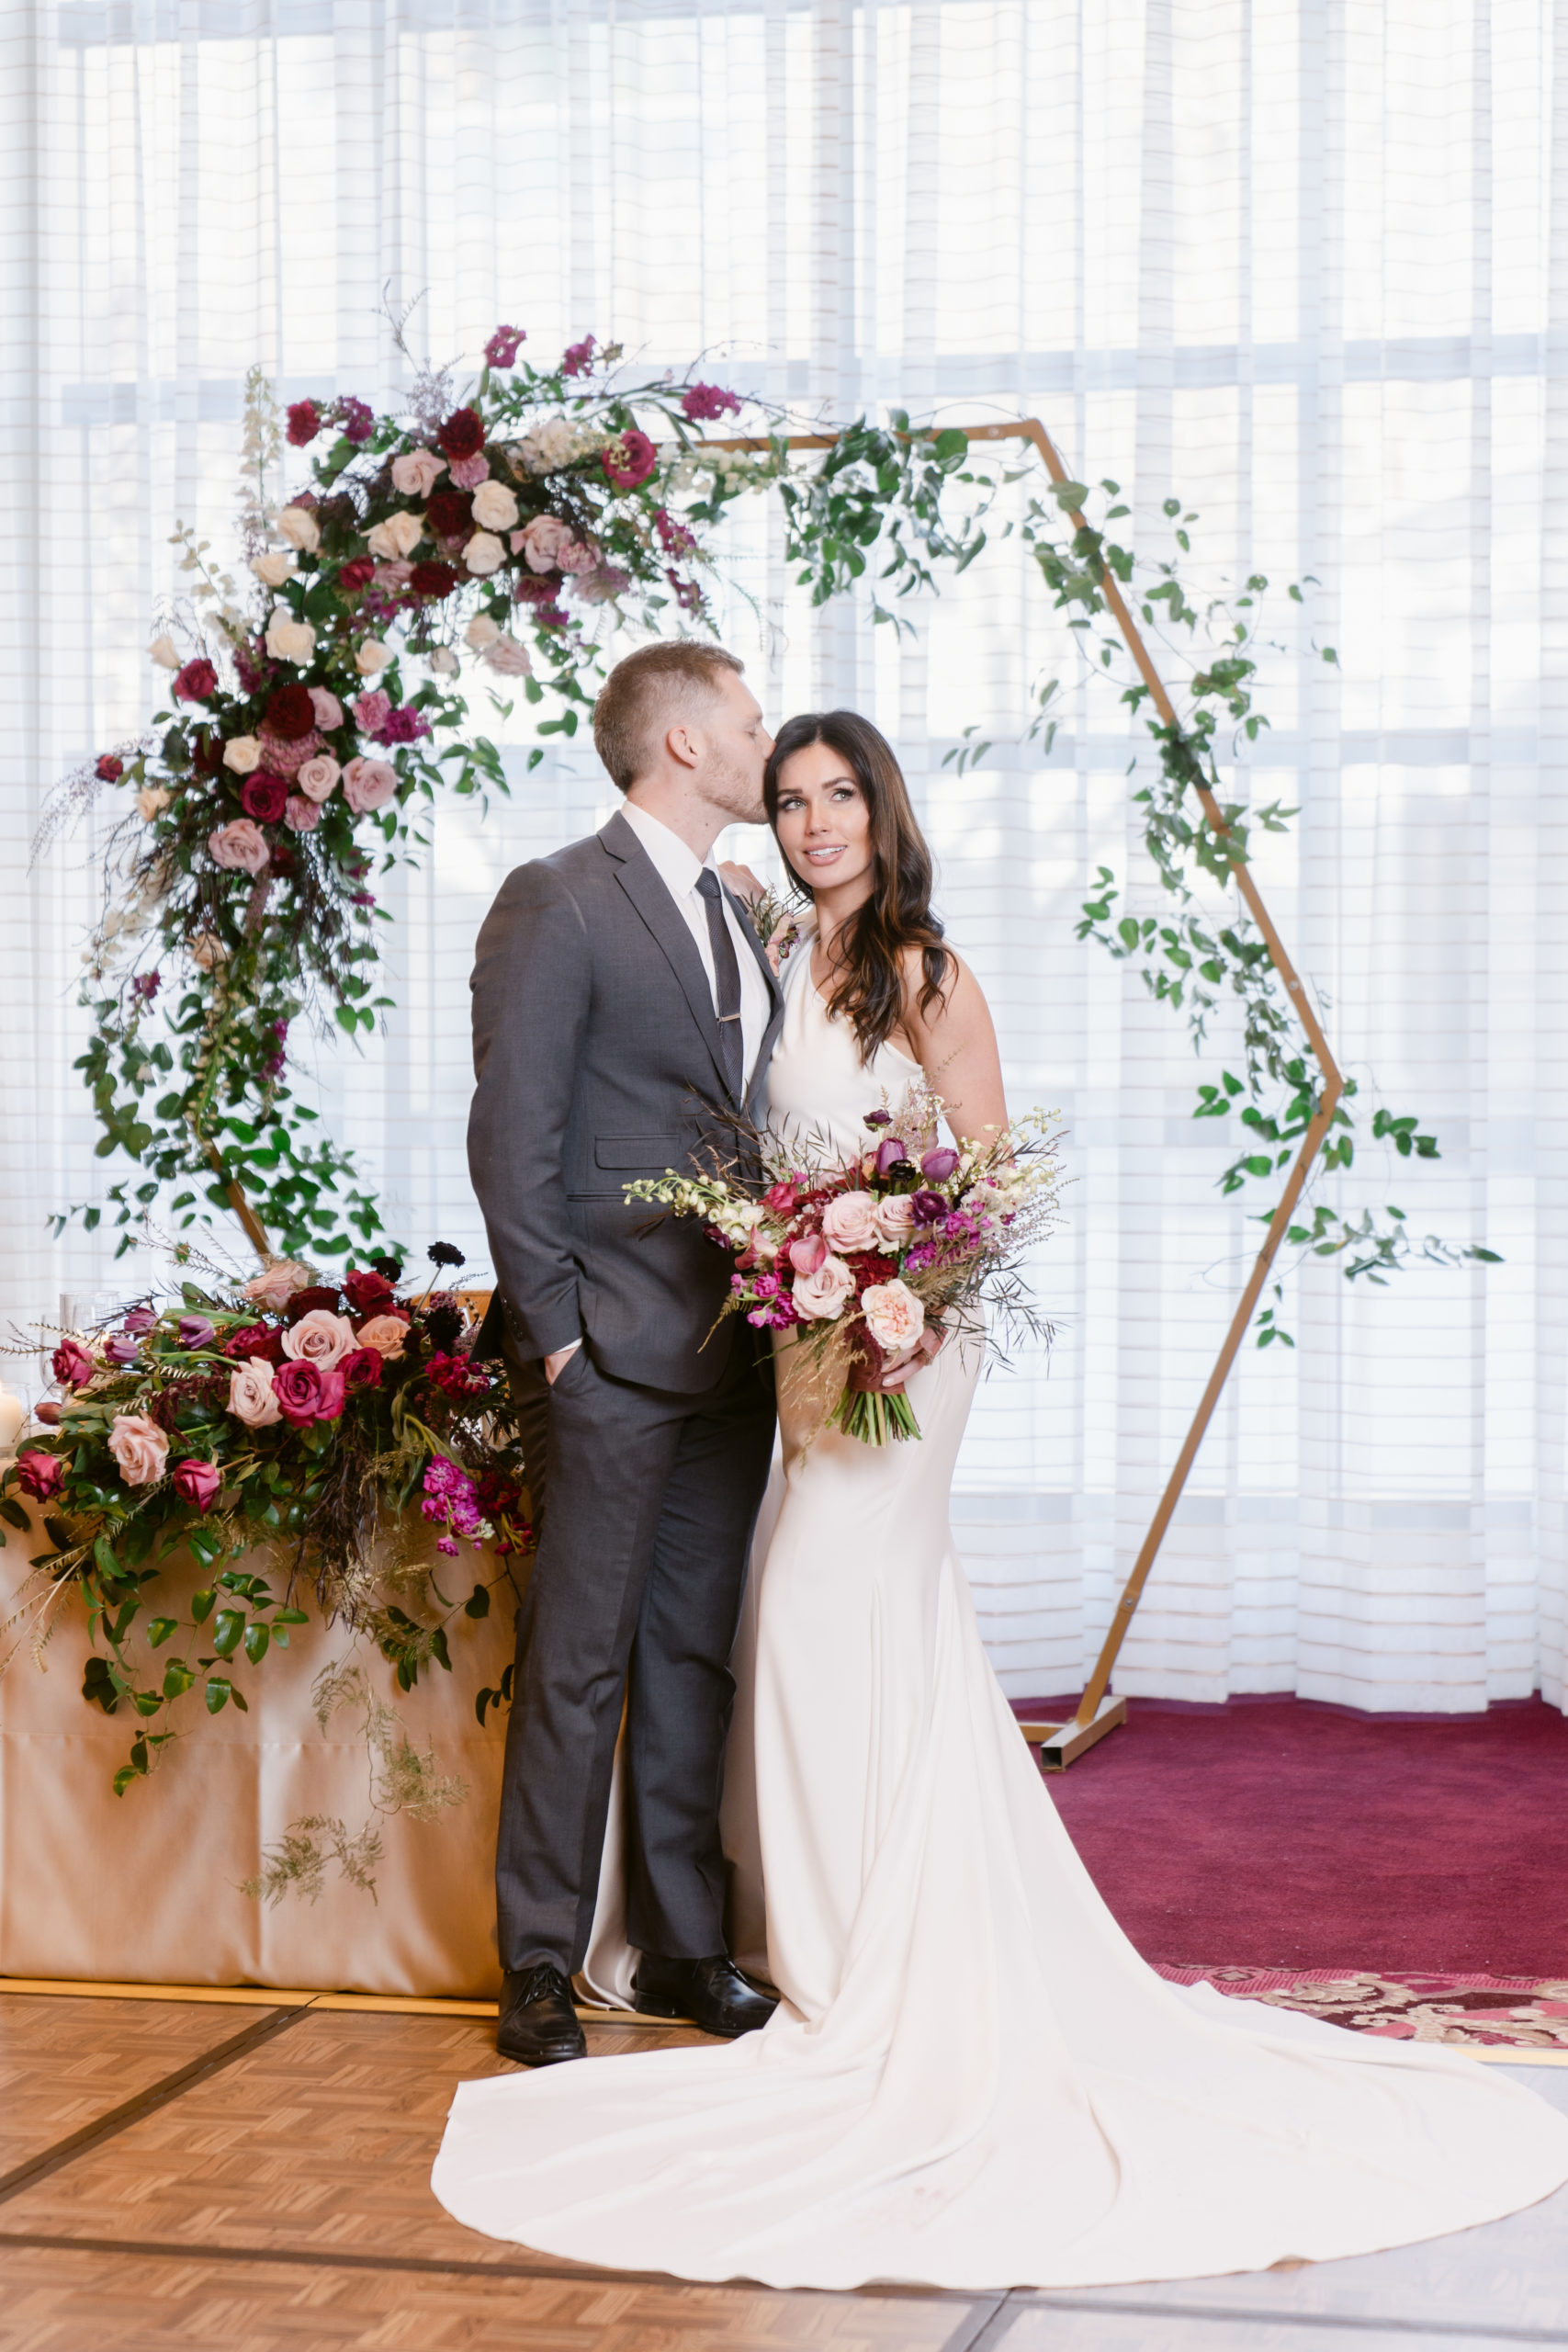
<path id="1" fill-rule="evenodd" d="M 959 426 L 959 430 L 966 433 L 971 442 L 1027 440 L 1027 442 L 1032 442 L 1039 449 L 1039 456 L 1041 456 L 1041 461 L 1046 466 L 1046 473 L 1051 475 L 1053 482 L 1070 482 L 1072 480 L 1072 475 L 1063 466 L 1060 456 L 1056 454 L 1056 445 L 1051 442 L 1051 435 L 1041 426 L 1039 416 L 1025 416 L 1018 423 L 1006 423 L 1006 426 L 994 426 L 994 423 L 987 423 L 987 426 Z M 835 435 L 830 435 L 830 433 L 792 433 L 792 435 L 788 435 L 788 447 L 790 449 L 830 449 L 832 445 L 835 445 Z M 705 447 L 708 449 L 715 449 L 715 447 L 717 449 L 766 449 L 771 445 L 766 440 L 729 440 L 729 442 L 705 442 Z M 1070 508 L 1070 520 L 1072 520 L 1072 524 L 1077 529 L 1084 529 L 1084 515 L 1077 513 L 1074 508 Z M 1166 727 L 1180 727 L 1180 720 L 1175 715 L 1175 706 L 1173 706 L 1171 696 L 1164 689 L 1159 670 L 1150 661 L 1150 649 L 1143 642 L 1143 635 L 1138 633 L 1138 623 L 1133 621 L 1131 612 L 1126 609 L 1126 600 L 1121 597 L 1121 588 L 1117 586 L 1114 574 L 1110 574 L 1110 572 L 1105 574 L 1105 579 L 1100 581 L 1100 593 L 1105 595 L 1105 602 L 1110 604 L 1110 612 L 1112 612 L 1112 616 L 1117 621 L 1117 628 L 1121 630 L 1121 635 L 1126 640 L 1126 649 L 1133 656 L 1133 661 L 1138 663 L 1138 675 L 1143 677 L 1145 687 L 1150 689 L 1150 699 L 1152 699 L 1154 708 L 1159 710 L 1164 724 Z M 1208 790 L 1208 786 L 1199 786 L 1197 793 L 1199 793 L 1199 802 L 1204 807 L 1204 816 L 1208 818 L 1208 823 L 1213 826 L 1213 830 L 1215 833 L 1225 833 L 1227 826 L 1225 826 L 1225 818 L 1220 816 L 1220 804 L 1213 797 L 1213 793 Z M 1060 1769 L 1065 1769 L 1077 1757 L 1081 1757 L 1086 1748 L 1093 1748 L 1095 1740 L 1105 1738 L 1107 1731 L 1114 1731 L 1117 1724 L 1126 1722 L 1126 1698 L 1107 1698 L 1105 1696 L 1107 1689 L 1110 1689 L 1110 1677 L 1112 1677 L 1112 1668 L 1117 1663 L 1117 1653 L 1121 1651 L 1121 1644 L 1126 1642 L 1128 1625 L 1133 1623 L 1133 1611 L 1138 1609 L 1138 1602 L 1143 1599 L 1143 1588 L 1150 1581 L 1150 1569 L 1154 1566 L 1154 1559 L 1159 1557 L 1159 1545 L 1166 1541 L 1166 1529 L 1171 1526 L 1171 1517 L 1175 1515 L 1175 1505 L 1180 1503 L 1182 1486 L 1187 1484 L 1187 1477 L 1192 1472 L 1192 1463 L 1197 1461 L 1197 1451 L 1204 1444 L 1204 1435 L 1208 1430 L 1208 1423 L 1213 1421 L 1213 1411 L 1215 1411 L 1215 1404 L 1220 1402 L 1220 1392 L 1225 1388 L 1225 1381 L 1229 1378 L 1229 1369 L 1237 1362 L 1237 1350 L 1241 1348 L 1241 1341 L 1246 1336 L 1246 1327 L 1251 1324 L 1253 1312 L 1258 1308 L 1258 1301 L 1262 1298 L 1262 1284 L 1269 1279 L 1269 1268 L 1274 1265 L 1274 1258 L 1279 1254 L 1279 1244 L 1286 1237 L 1286 1225 L 1291 1223 L 1291 1216 L 1295 1214 L 1295 1204 L 1298 1204 L 1298 1200 L 1302 1195 L 1302 1185 L 1307 1183 L 1307 1174 L 1312 1169 L 1312 1162 L 1316 1160 L 1319 1150 L 1324 1148 L 1324 1136 L 1328 1134 L 1328 1124 L 1333 1120 L 1335 1103 L 1340 1101 L 1340 1094 L 1345 1091 L 1345 1077 L 1340 1075 L 1340 1065 L 1335 1063 L 1333 1054 L 1328 1051 L 1328 1040 L 1324 1037 L 1319 1018 L 1316 1018 L 1316 1014 L 1312 1009 L 1312 1000 L 1307 997 L 1307 990 L 1302 988 L 1302 983 L 1300 983 L 1300 978 L 1295 974 L 1295 967 L 1293 967 L 1291 957 L 1284 950 L 1284 941 L 1281 941 L 1279 931 L 1274 929 L 1274 920 L 1269 917 L 1267 906 L 1262 903 L 1262 896 L 1258 891 L 1258 884 L 1253 882 L 1251 868 L 1248 866 L 1234 866 L 1232 873 L 1237 877 L 1237 889 L 1241 891 L 1241 898 L 1246 901 L 1246 910 L 1253 917 L 1253 922 L 1258 924 L 1258 929 L 1260 929 L 1260 934 L 1262 934 L 1262 938 L 1267 943 L 1269 962 L 1274 964 L 1274 971 L 1286 983 L 1286 995 L 1291 997 L 1291 1004 L 1295 1007 L 1295 1016 L 1298 1016 L 1300 1025 L 1307 1033 L 1307 1042 L 1312 1044 L 1312 1054 L 1316 1056 L 1316 1065 L 1319 1065 L 1321 1077 L 1324 1077 L 1324 1091 L 1319 1094 L 1316 1112 L 1312 1117 L 1312 1124 L 1307 1127 L 1307 1134 L 1302 1136 L 1302 1145 L 1300 1145 L 1300 1150 L 1295 1155 L 1295 1162 L 1291 1167 L 1291 1176 L 1286 1178 L 1286 1188 L 1284 1188 L 1284 1192 L 1279 1197 L 1279 1207 L 1274 1209 L 1274 1216 L 1269 1218 L 1269 1230 L 1262 1237 L 1262 1249 L 1258 1251 L 1253 1270 L 1251 1270 L 1251 1275 L 1246 1279 L 1246 1289 L 1241 1291 L 1241 1298 L 1237 1301 L 1237 1312 L 1229 1319 L 1229 1331 L 1225 1334 L 1225 1345 L 1220 1348 L 1220 1355 L 1215 1357 L 1215 1367 L 1208 1374 L 1208 1385 L 1204 1388 L 1204 1395 L 1199 1397 L 1197 1414 L 1192 1416 L 1192 1425 L 1187 1430 L 1182 1449 L 1175 1456 L 1175 1465 L 1171 1470 L 1171 1477 L 1166 1479 L 1166 1491 L 1161 1494 L 1159 1505 L 1154 1510 L 1154 1517 L 1150 1519 L 1150 1531 L 1143 1538 L 1143 1548 L 1138 1552 L 1138 1559 L 1133 1562 L 1133 1573 L 1128 1576 L 1126 1588 L 1121 1592 L 1121 1599 L 1117 1602 L 1117 1611 L 1112 1616 L 1110 1632 L 1105 1635 L 1105 1644 L 1103 1644 L 1100 1656 L 1095 1661 L 1095 1670 L 1088 1677 L 1088 1686 L 1086 1686 L 1086 1691 L 1084 1691 L 1084 1696 L 1079 1700 L 1077 1715 L 1067 1724 L 1023 1724 L 1023 1736 L 1034 1748 L 1039 1748 L 1041 1762 L 1044 1762 L 1046 1771 L 1060 1771 Z"/>

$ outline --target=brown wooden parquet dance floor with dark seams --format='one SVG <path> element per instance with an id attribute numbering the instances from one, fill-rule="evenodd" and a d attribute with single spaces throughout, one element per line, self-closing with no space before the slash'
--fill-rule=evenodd
<path id="1" fill-rule="evenodd" d="M 684 2286 L 458 2227 L 430 2164 L 494 2072 L 489 2018 L 0 1992 L 0 2352 L 983 2352 L 997 2296 Z"/>

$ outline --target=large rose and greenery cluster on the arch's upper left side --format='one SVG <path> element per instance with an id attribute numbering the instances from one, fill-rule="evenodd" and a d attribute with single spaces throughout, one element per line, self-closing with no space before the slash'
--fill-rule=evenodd
<path id="1" fill-rule="evenodd" d="M 376 875 L 428 847 L 421 816 L 442 788 L 480 804 L 508 788 L 473 729 L 463 663 L 498 713 L 522 689 L 550 706 L 538 736 L 576 734 L 609 630 L 710 628 L 705 534 L 771 485 L 816 602 L 865 574 L 872 543 L 882 581 L 905 593 L 976 539 L 973 515 L 943 517 L 961 433 L 910 430 L 907 416 L 856 423 L 809 477 L 792 475 L 771 409 L 766 449 L 705 449 L 705 428 L 741 412 L 736 393 L 623 383 L 618 346 L 592 336 L 541 372 L 520 360 L 522 341 L 498 327 L 463 393 L 449 372 L 421 369 L 397 416 L 355 397 L 294 402 L 287 442 L 331 440 L 313 487 L 284 503 L 270 494 L 282 421 L 252 369 L 240 517 L 252 602 L 207 541 L 176 532 L 190 652 L 169 630 L 150 649 L 169 703 L 136 743 L 68 776 L 45 816 L 40 842 L 103 786 L 134 795 L 85 955 L 94 1035 L 78 1063 L 99 1157 L 122 1150 L 146 1171 L 108 1188 L 120 1251 L 167 1188 L 181 1188 L 167 1207 L 188 1228 L 209 1204 L 230 1209 L 237 1185 L 289 1254 L 336 1258 L 355 1235 L 383 1232 L 350 1155 L 287 1082 L 289 1037 L 301 1018 L 374 1030 L 390 1004 L 374 978 Z M 891 619 L 882 602 L 877 614 Z M 529 767 L 538 760 L 536 746 Z M 103 1211 L 68 1214 L 94 1228 Z"/>

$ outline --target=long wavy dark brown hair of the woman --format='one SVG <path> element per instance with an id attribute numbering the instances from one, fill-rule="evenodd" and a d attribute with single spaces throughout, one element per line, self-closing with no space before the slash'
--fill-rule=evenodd
<path id="1" fill-rule="evenodd" d="M 870 1061 L 905 1016 L 903 950 L 919 948 L 922 1014 L 945 995 L 952 950 L 943 946 L 943 924 L 931 913 L 931 851 L 914 818 L 903 769 L 886 736 L 877 734 L 858 710 L 802 710 L 799 717 L 783 722 L 762 779 L 773 835 L 778 835 L 778 779 L 785 760 L 811 743 L 837 750 L 872 816 L 877 858 L 872 894 L 832 943 L 827 997 L 827 1009 L 849 1018 L 860 1058 Z M 809 887 L 804 875 L 797 875 L 797 882 Z"/>

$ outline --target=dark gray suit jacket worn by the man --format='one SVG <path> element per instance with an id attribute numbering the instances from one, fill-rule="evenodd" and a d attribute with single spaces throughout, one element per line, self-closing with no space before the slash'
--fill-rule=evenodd
<path id="1" fill-rule="evenodd" d="M 585 1336 L 621 1381 L 686 1395 L 719 1378 L 726 1350 L 703 1338 L 729 1256 L 693 1218 L 639 1230 L 658 1211 L 621 1188 L 708 1143 L 729 1152 L 712 1105 L 762 1122 L 783 995 L 752 946 L 773 1014 L 736 1105 L 696 941 L 623 816 L 505 877 L 473 974 L 468 1171 L 498 1282 L 482 1350 L 505 1315 L 524 1359 Z"/>

